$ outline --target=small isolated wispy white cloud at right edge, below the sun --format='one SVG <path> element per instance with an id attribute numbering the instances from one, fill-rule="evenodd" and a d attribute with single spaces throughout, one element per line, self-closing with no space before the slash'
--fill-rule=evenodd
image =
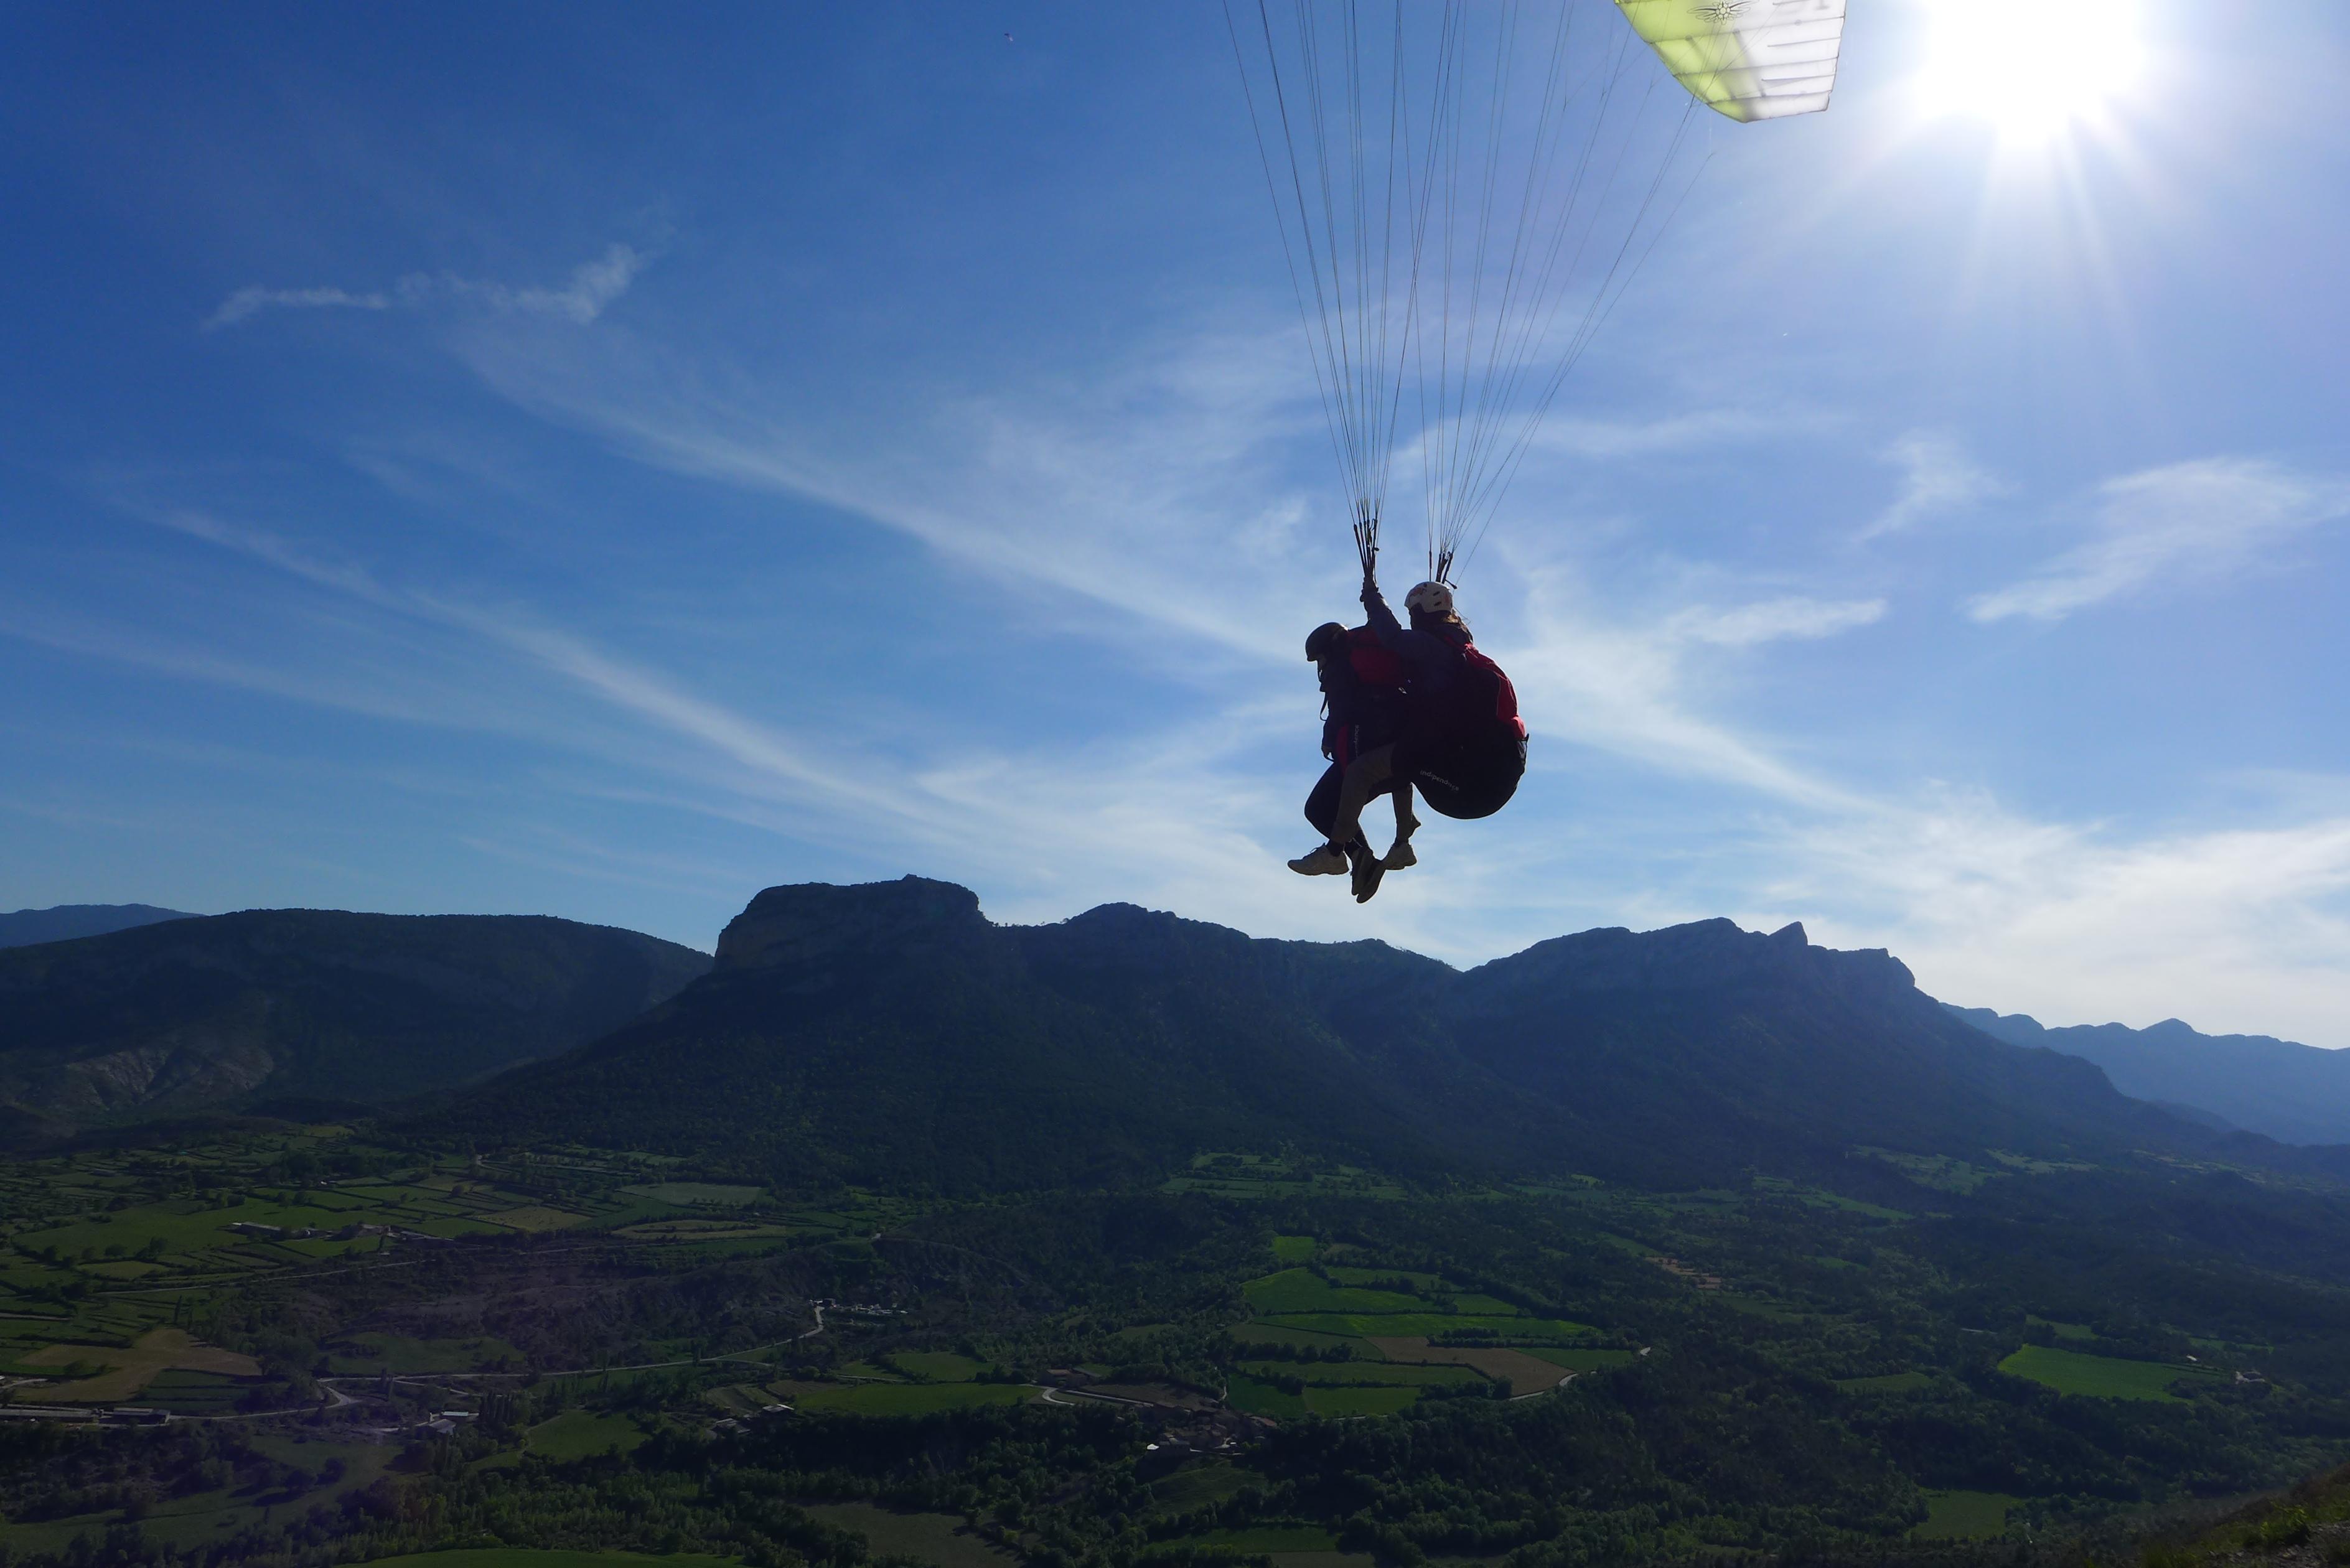
<path id="1" fill-rule="evenodd" d="M 2277 463 L 2174 463 L 2099 491 L 2096 538 L 2019 583 L 1967 602 L 1976 621 L 2063 621 L 2169 581 L 2228 576 L 2263 548 L 2350 515 L 2350 484 Z"/>

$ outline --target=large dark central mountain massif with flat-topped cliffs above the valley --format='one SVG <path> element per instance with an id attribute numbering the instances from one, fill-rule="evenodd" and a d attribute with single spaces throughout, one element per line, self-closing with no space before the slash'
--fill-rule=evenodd
<path id="1" fill-rule="evenodd" d="M 996 926 L 916 877 L 768 889 L 707 978 L 432 1119 L 938 1190 L 1121 1182 L 1217 1147 L 1708 1180 L 1856 1145 L 2211 1138 L 1800 926 L 1586 931 L 1455 971 L 1133 905 Z"/>

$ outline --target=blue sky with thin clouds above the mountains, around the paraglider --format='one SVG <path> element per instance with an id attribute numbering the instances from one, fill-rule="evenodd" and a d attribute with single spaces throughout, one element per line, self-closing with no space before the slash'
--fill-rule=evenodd
<path id="1" fill-rule="evenodd" d="M 2054 129 L 1922 0 L 1706 127 L 1464 576 L 1532 773 L 1368 907 L 1217 7 L 14 7 L 0 907 L 1730 914 L 2350 1044 L 2350 9 L 2099 2 Z"/>

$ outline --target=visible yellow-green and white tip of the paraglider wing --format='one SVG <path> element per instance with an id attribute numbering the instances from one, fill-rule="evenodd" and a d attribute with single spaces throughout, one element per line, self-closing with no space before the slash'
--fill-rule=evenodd
<path id="1" fill-rule="evenodd" d="M 1845 0 L 1617 0 L 1690 94 L 1732 120 L 1828 106 Z"/>

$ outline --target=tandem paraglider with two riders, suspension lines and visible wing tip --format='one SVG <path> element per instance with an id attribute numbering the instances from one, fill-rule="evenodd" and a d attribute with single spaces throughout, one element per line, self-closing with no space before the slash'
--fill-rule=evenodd
<path id="1" fill-rule="evenodd" d="M 1528 731 L 1455 571 L 1690 200 L 1699 110 L 1824 110 L 1845 0 L 1227 0 L 1224 19 L 1363 567 L 1365 625 L 1307 639 L 1325 842 L 1290 867 L 1368 900 L 1417 863 L 1415 797 L 1483 818 L 1516 792 Z M 1408 625 L 1377 585 L 1398 437 L 1426 522 Z M 1379 795 L 1384 856 L 1361 830 Z"/>

